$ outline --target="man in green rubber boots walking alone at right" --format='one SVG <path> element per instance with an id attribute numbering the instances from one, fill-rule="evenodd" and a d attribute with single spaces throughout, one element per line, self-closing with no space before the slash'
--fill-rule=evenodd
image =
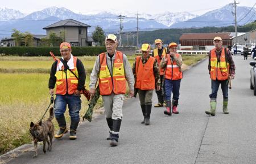
<path id="1" fill-rule="evenodd" d="M 223 93 L 223 106 L 222 110 L 224 114 L 229 114 L 228 111 L 228 78 L 234 79 L 236 66 L 234 64 L 231 52 L 222 48 L 222 38 L 214 37 L 213 44 L 214 49 L 209 53 L 208 70 L 210 79 L 212 79 L 212 93 L 210 96 L 210 110 L 205 111 L 206 114 L 214 116 L 216 114 L 216 98 L 218 93 L 218 87 L 220 87 Z"/>

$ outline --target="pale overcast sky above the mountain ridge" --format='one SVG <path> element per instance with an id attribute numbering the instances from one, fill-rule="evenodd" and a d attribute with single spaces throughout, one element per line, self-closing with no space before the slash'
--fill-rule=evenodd
<path id="1" fill-rule="evenodd" d="M 238 6 L 249 6 L 252 7 L 256 1 L 254 0 L 240 0 Z M 158 14 L 159 12 L 183 12 L 188 11 L 192 14 L 204 14 L 209 10 L 214 10 L 228 3 L 234 3 L 234 1 L 226 0 L 93 0 L 93 1 L 67 1 L 67 0 L 22 0 L 22 1 L 1 1 L 1 8 L 13 8 L 23 13 L 29 14 L 34 11 L 43 10 L 44 8 L 56 6 L 65 7 L 81 14 L 88 14 L 98 11 L 127 11 L 127 12 L 141 12 L 146 14 Z"/>

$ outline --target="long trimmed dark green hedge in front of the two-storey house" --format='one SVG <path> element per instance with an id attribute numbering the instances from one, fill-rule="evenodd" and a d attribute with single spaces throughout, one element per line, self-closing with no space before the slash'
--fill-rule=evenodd
<path id="1" fill-rule="evenodd" d="M 49 51 L 60 55 L 59 47 L 0 47 L 0 54 L 19 56 L 48 56 Z M 93 56 L 106 51 L 105 47 L 73 47 L 72 54 L 76 56 Z"/>

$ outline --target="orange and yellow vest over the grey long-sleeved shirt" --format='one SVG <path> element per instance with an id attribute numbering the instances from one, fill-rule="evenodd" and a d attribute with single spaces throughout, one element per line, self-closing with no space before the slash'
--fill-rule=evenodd
<path id="1" fill-rule="evenodd" d="M 123 53 L 116 51 L 112 75 L 106 63 L 106 53 L 100 54 L 99 86 L 101 95 L 125 94 L 126 79 L 125 67 L 123 66 Z"/>

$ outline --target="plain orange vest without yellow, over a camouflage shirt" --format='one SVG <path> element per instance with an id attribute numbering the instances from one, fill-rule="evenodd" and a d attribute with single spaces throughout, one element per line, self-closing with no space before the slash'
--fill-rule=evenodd
<path id="1" fill-rule="evenodd" d="M 142 63 L 142 57 L 136 57 L 136 85 L 135 88 L 141 90 L 155 89 L 154 62 L 155 58 L 148 58 L 145 64 Z M 139 64 L 139 65 L 138 65 Z"/>

